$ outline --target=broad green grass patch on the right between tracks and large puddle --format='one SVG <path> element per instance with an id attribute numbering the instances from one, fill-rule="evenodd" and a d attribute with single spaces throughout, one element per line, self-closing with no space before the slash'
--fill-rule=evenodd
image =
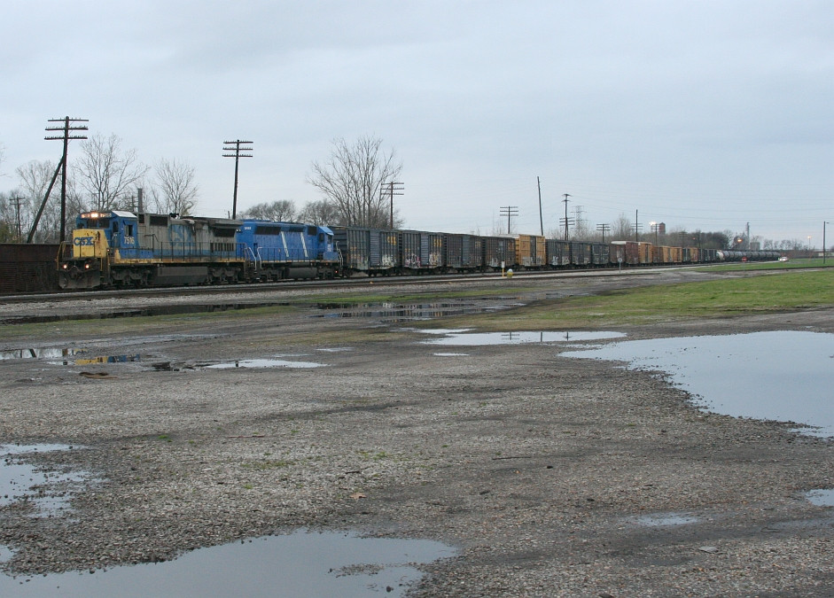
<path id="1" fill-rule="evenodd" d="M 834 306 L 834 269 L 733 277 L 538 301 L 527 307 L 443 321 L 479 330 L 555 330 L 648 324 L 699 317 L 778 313 Z"/>

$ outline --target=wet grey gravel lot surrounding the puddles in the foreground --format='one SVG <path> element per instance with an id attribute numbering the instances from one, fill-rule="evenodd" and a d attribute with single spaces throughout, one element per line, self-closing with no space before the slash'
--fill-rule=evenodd
<path id="1" fill-rule="evenodd" d="M 0 351 L 82 350 L 0 361 L 0 444 L 72 445 L 28 459 L 93 480 L 72 511 L 0 507 L 0 545 L 16 551 L 4 569 L 98 571 L 304 527 L 457 548 L 423 567 L 414 595 L 834 594 L 834 517 L 803 495 L 834 487 L 829 440 L 706 414 L 660 377 L 560 357 L 557 343 L 448 352 L 420 343 L 409 315 L 322 315 L 0 336 Z M 832 315 L 614 330 L 834 332 Z M 136 360 L 96 362 L 125 355 Z M 259 359 L 321 367 L 240 367 Z"/>

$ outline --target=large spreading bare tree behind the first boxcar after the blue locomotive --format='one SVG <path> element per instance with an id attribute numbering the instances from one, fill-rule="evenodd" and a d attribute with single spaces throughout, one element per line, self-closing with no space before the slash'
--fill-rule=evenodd
<path id="1" fill-rule="evenodd" d="M 395 182 L 402 170 L 394 150 L 380 150 L 378 137 L 360 137 L 351 147 L 344 139 L 333 141 L 330 159 L 313 162 L 308 183 L 320 190 L 326 201 L 348 225 L 386 227 L 390 213 L 385 183 Z"/>

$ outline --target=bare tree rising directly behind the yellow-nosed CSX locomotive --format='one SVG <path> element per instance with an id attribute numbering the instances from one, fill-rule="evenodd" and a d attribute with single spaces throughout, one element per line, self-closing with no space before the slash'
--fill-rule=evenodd
<path id="1" fill-rule="evenodd" d="M 97 210 L 129 207 L 132 190 L 148 167 L 136 158 L 136 150 L 122 150 L 121 138 L 90 136 L 82 141 L 81 158 L 74 164 L 78 183 L 90 194 L 91 206 Z"/>

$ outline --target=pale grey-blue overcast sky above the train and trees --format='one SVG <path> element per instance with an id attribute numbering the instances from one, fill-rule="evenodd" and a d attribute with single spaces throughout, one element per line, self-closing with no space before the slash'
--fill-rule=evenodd
<path id="1" fill-rule="evenodd" d="M 669 229 L 822 245 L 834 221 L 832 0 L 6 0 L 0 190 L 89 119 L 196 169 L 195 214 L 319 199 L 332 141 L 403 163 L 413 229 L 537 233 L 581 206 Z M 70 159 L 77 144 L 70 147 Z M 834 240 L 834 227 L 829 228 Z"/>

